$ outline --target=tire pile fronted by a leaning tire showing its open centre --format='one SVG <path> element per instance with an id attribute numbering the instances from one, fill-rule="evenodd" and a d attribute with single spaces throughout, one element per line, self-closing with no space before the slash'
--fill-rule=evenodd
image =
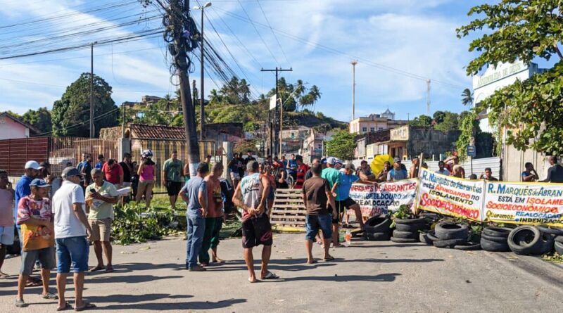
<path id="1" fill-rule="evenodd" d="M 542 226 L 518 226 L 510 231 L 507 239 L 508 246 L 517 255 L 543 255 L 553 249 L 552 233 L 559 234 L 555 229 Z"/>

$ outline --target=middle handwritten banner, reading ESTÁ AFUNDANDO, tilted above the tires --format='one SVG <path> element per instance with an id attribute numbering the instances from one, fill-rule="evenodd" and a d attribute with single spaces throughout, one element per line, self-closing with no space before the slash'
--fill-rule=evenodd
<path id="1" fill-rule="evenodd" d="M 422 210 L 482 221 L 484 181 L 469 181 L 420 169 L 417 207 Z"/>

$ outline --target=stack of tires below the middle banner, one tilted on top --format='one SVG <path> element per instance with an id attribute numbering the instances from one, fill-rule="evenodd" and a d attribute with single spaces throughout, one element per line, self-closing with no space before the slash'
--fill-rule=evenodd
<path id="1" fill-rule="evenodd" d="M 434 233 L 426 234 L 436 248 L 455 248 L 458 250 L 479 250 L 479 243 L 467 241 L 469 226 L 454 222 L 440 222 L 436 224 Z"/>

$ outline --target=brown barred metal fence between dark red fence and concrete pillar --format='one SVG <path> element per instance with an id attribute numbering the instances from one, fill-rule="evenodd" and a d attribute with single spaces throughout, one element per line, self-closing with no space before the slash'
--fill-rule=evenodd
<path id="1" fill-rule="evenodd" d="M 53 137 L 49 141 L 49 163 L 53 173 L 60 174 L 68 163 L 76 166 L 82 161 L 82 153 L 89 153 L 94 163 L 99 154 L 102 154 L 106 160 L 121 159 L 119 140 L 116 139 Z"/>

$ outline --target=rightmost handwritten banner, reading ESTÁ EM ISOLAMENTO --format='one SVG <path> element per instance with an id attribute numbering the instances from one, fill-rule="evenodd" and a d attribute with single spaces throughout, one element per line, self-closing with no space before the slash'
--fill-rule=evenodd
<path id="1" fill-rule="evenodd" d="M 563 184 L 487 182 L 485 221 L 563 226 Z"/>

